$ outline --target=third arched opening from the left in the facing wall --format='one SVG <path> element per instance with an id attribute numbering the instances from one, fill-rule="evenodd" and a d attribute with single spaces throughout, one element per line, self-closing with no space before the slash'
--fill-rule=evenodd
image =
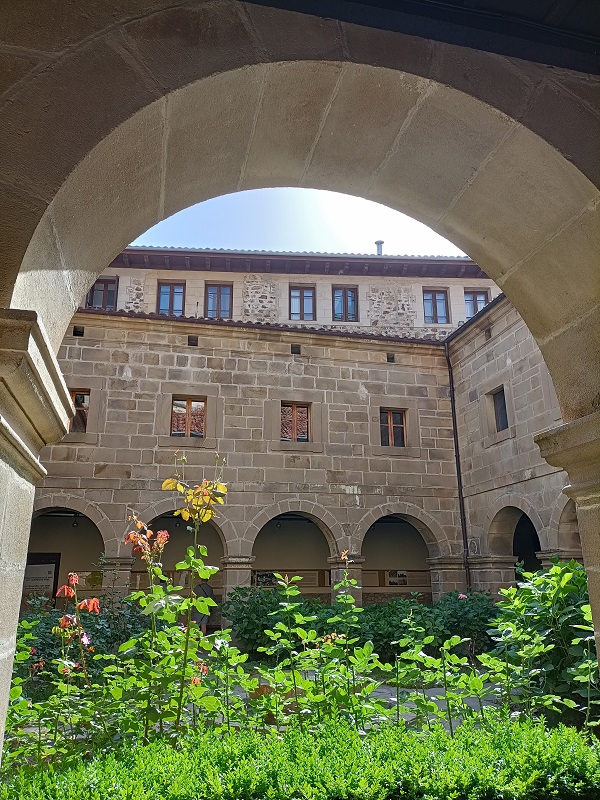
<path id="1" fill-rule="evenodd" d="M 305 514 L 279 514 L 259 531 L 253 546 L 252 582 L 255 586 L 275 584 L 274 572 L 299 575 L 298 588 L 304 595 L 329 600 L 330 548 L 317 524 Z"/>

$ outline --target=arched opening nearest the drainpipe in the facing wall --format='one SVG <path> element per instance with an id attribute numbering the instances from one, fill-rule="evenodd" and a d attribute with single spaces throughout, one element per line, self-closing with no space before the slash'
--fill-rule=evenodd
<path id="1" fill-rule="evenodd" d="M 429 548 L 409 520 L 390 514 L 373 523 L 365 534 L 362 556 L 363 603 L 384 603 L 412 592 L 431 601 Z"/>

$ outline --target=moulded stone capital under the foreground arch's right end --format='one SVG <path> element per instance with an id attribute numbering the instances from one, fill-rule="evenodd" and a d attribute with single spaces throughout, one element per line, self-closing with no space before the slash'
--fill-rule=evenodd
<path id="1" fill-rule="evenodd" d="M 600 494 L 600 410 L 542 431 L 534 441 L 549 464 L 568 474 L 566 495 L 581 502 Z"/>

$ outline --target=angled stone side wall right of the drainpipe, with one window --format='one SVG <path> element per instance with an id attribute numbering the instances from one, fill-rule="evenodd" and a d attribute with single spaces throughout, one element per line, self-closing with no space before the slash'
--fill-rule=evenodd
<path id="1" fill-rule="evenodd" d="M 540 540 L 542 560 L 555 553 L 580 557 L 566 527 L 566 473 L 548 465 L 534 434 L 561 421 L 542 355 L 508 300 L 455 335 L 450 345 L 469 553 L 478 585 L 514 577 L 515 521 L 526 513 Z M 505 392 L 508 429 L 496 431 L 492 394 Z M 516 511 L 511 511 L 516 509 Z"/>

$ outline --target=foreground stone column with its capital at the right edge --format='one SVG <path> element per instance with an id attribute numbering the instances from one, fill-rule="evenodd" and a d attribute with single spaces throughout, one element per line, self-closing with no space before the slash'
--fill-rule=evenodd
<path id="1" fill-rule="evenodd" d="M 577 506 L 583 563 L 588 576 L 596 646 L 600 653 L 600 411 L 535 437 L 542 456 L 564 469 L 563 490 Z"/>

